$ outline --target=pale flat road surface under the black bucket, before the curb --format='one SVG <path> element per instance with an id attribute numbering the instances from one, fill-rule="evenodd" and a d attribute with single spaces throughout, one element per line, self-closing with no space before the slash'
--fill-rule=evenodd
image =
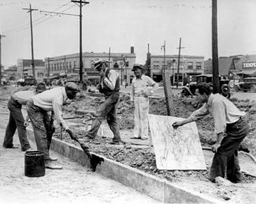
<path id="1" fill-rule="evenodd" d="M 46 169 L 44 177 L 25 177 L 24 152 L 2 148 L 8 117 L 0 115 L 0 203 L 159 203 L 54 152 L 51 155 L 58 156 L 62 170 Z M 14 144 L 19 144 L 17 135 Z"/>

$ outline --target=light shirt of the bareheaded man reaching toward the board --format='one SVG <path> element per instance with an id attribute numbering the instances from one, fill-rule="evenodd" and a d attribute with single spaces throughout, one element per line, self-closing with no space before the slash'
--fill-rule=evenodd
<path id="1" fill-rule="evenodd" d="M 203 104 L 189 118 L 196 120 L 208 113 L 213 115 L 215 133 L 225 133 L 227 124 L 237 122 L 239 118 L 245 115 L 244 111 L 239 111 L 235 104 L 219 93 L 211 93 L 207 104 Z"/>

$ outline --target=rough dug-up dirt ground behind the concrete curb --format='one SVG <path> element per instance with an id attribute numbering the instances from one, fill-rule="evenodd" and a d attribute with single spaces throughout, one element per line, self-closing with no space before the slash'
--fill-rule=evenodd
<path id="1" fill-rule="evenodd" d="M 65 118 L 76 116 L 83 117 L 68 120 L 69 125 L 71 125 L 71 129 L 76 132 L 76 134 L 80 137 L 80 140 L 83 140 L 83 136 L 87 130 L 87 126 L 83 124 L 83 119 L 90 115 L 84 115 L 83 111 L 95 111 L 102 101 L 104 101 L 103 97 L 91 97 L 86 93 L 83 93 L 80 99 L 64 107 Z M 250 153 L 256 156 L 256 104 L 250 100 L 237 100 L 236 98 L 232 99 L 232 101 L 237 107 L 239 107 L 240 110 L 247 112 L 250 133 L 243 141 L 243 148 L 249 149 Z M 192 111 L 195 111 L 195 102 L 190 98 L 181 99 L 179 97 L 175 97 L 174 104 L 175 114 L 177 117 L 187 118 Z M 213 153 L 211 151 L 203 151 L 206 159 L 206 171 L 158 170 L 156 168 L 154 149 L 147 147 L 149 141 L 144 141 L 143 146 L 139 146 L 132 145 L 133 142 L 138 143 L 137 141 L 128 139 L 132 136 L 134 122 L 133 109 L 127 93 L 121 94 L 121 100 L 117 108 L 117 113 L 121 126 L 121 137 L 124 141 L 128 141 L 128 144 L 124 147 L 109 145 L 108 142 L 111 140 L 113 134 L 111 131 L 109 131 L 106 122 L 103 122 L 103 131 L 100 131 L 103 132 L 103 136 L 97 137 L 93 143 L 88 144 L 90 151 L 98 153 L 99 155 L 104 155 L 107 158 L 124 163 L 125 165 L 143 170 L 157 177 L 169 180 L 184 188 L 195 190 L 230 203 L 251 203 L 252 200 L 256 199 L 256 185 L 253 177 L 242 174 L 242 182 L 240 184 L 232 184 L 228 187 L 224 185 L 218 186 L 217 184 L 213 184 L 207 180 L 213 158 Z M 150 113 L 156 115 L 166 115 L 165 100 L 162 98 L 150 99 Z M 88 123 L 90 124 L 90 122 Z M 215 140 L 215 136 L 213 134 L 213 118 L 208 115 L 198 120 L 197 126 L 202 146 L 210 147 Z M 59 139 L 61 138 L 59 129 L 57 129 L 56 133 L 54 133 L 54 137 Z M 70 140 L 67 133 L 63 133 L 62 140 L 78 145 Z M 248 167 L 250 164 L 253 164 L 252 160 L 247 159 L 248 158 L 241 157 L 241 166 Z"/>

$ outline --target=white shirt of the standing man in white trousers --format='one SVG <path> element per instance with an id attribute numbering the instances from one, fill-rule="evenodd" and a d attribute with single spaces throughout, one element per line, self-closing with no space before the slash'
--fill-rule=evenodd
<path id="1" fill-rule="evenodd" d="M 154 80 L 147 75 L 142 75 L 141 78 L 133 78 L 131 100 L 133 101 L 134 97 L 147 97 L 147 88 L 149 86 L 153 86 L 154 89 L 157 89 L 158 83 L 154 82 Z M 153 89 L 151 91 L 153 92 Z"/>

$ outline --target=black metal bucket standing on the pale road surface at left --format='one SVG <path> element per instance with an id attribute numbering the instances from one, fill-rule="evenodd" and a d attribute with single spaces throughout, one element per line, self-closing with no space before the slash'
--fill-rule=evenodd
<path id="1" fill-rule="evenodd" d="M 27 151 L 25 153 L 25 176 L 43 177 L 46 173 L 43 151 Z"/>

